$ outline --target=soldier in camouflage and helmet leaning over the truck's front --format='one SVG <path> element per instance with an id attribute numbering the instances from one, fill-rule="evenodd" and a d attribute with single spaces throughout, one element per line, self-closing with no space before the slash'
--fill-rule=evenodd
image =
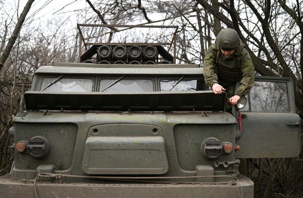
<path id="1" fill-rule="evenodd" d="M 228 112 L 231 112 L 230 104 L 236 105 L 240 97 L 246 95 L 254 85 L 254 65 L 234 29 L 220 31 L 215 44 L 207 51 L 203 68 L 205 82 L 212 87 L 214 93 L 227 92 Z M 240 82 L 240 86 L 235 91 L 237 82 Z"/>

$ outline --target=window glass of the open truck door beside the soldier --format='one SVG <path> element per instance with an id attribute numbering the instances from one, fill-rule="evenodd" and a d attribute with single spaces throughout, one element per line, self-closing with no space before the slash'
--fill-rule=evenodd
<path id="1" fill-rule="evenodd" d="M 255 82 L 250 90 L 253 112 L 289 112 L 285 82 Z"/>

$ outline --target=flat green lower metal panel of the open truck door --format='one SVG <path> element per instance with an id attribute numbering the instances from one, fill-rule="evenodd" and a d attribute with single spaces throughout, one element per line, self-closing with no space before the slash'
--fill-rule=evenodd
<path id="1" fill-rule="evenodd" d="M 243 112 L 240 150 L 236 158 L 294 158 L 300 153 L 297 114 Z"/>

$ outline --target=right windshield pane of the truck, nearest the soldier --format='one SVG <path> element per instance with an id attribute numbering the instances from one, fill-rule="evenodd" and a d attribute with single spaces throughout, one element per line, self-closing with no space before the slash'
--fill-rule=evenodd
<path id="1" fill-rule="evenodd" d="M 160 81 L 161 91 L 169 91 L 178 79 Z M 171 91 L 196 91 L 197 80 L 181 80 Z"/>

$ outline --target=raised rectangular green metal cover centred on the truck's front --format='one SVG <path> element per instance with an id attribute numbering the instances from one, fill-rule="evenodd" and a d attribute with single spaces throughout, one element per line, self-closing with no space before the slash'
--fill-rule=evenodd
<path id="1" fill-rule="evenodd" d="M 87 174 L 164 174 L 168 171 L 164 138 L 88 137 L 82 170 Z"/>

